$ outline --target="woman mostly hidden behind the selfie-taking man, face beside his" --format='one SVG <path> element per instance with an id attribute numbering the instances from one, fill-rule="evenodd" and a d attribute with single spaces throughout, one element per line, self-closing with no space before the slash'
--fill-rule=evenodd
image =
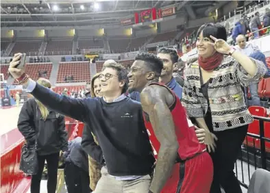
<path id="1" fill-rule="evenodd" d="M 101 94 L 101 85 L 100 85 L 100 81 L 98 79 L 99 77 L 99 73 L 97 73 L 93 79 L 91 80 L 91 97 L 102 97 L 103 95 Z M 88 127 L 88 125 L 84 126 L 84 129 Z M 90 188 L 91 190 L 95 190 L 96 185 L 97 185 L 97 181 L 99 181 L 99 179 L 101 178 L 101 167 L 102 164 L 104 164 L 103 162 L 103 155 L 102 155 L 102 151 L 101 148 L 99 146 L 99 143 L 97 142 L 97 138 L 94 136 L 94 134 L 92 133 L 93 136 L 93 142 L 91 144 L 89 144 L 91 151 L 93 151 L 93 155 L 97 155 L 97 156 L 89 156 L 89 175 L 90 175 Z M 99 160 L 101 157 L 101 162 L 98 162 L 97 160 Z"/>

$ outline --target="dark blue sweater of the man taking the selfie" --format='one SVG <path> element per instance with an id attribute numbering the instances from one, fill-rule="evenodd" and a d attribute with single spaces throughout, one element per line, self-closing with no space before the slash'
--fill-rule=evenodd
<path id="1" fill-rule="evenodd" d="M 143 122 L 140 103 L 130 98 L 106 103 L 102 98 L 72 99 L 36 84 L 33 96 L 52 110 L 80 120 L 99 139 L 110 175 L 147 175 L 154 157 Z M 89 131 L 84 131 L 82 147 L 87 151 Z M 88 153 L 88 152 L 87 152 Z M 88 153 L 89 154 L 89 153 Z"/>

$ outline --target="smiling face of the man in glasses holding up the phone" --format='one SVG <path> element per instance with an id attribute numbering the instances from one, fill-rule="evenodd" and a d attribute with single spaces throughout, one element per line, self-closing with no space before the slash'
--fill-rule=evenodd
<path id="1" fill-rule="evenodd" d="M 101 92 L 103 96 L 111 96 L 113 93 L 122 92 L 125 81 L 119 81 L 117 70 L 105 68 L 99 75 Z"/>

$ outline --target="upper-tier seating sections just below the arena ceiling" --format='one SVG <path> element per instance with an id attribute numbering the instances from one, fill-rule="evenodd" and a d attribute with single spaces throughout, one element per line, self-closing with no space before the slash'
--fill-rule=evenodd
<path id="1" fill-rule="evenodd" d="M 130 36 L 108 36 L 108 42 L 110 44 L 110 50 L 116 52 L 134 51 L 142 47 L 143 44 L 149 38 L 153 38 L 151 42 L 163 42 L 172 40 L 179 33 L 179 31 L 169 31 L 156 36 L 145 36 L 140 38 L 130 38 Z M 10 53 L 25 52 L 29 55 L 38 55 L 38 51 L 42 44 L 42 38 L 36 40 L 20 40 L 15 42 L 15 45 Z M 10 40 L 1 41 L 1 50 L 5 50 L 10 44 Z M 93 49 L 103 48 L 103 40 L 101 37 L 97 38 L 79 38 L 78 40 L 79 49 Z M 58 55 L 58 54 L 71 54 L 73 49 L 73 38 L 64 39 L 52 39 L 47 42 L 45 49 L 45 55 Z"/>

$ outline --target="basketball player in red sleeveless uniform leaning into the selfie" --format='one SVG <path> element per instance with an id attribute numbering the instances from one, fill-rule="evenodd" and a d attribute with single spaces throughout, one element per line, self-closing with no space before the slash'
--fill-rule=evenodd
<path id="1" fill-rule="evenodd" d="M 209 193 L 213 166 L 206 146 L 199 144 L 175 93 L 158 83 L 162 61 L 141 53 L 132 64 L 129 89 L 140 92 L 145 126 L 157 159 L 149 192 Z"/>

